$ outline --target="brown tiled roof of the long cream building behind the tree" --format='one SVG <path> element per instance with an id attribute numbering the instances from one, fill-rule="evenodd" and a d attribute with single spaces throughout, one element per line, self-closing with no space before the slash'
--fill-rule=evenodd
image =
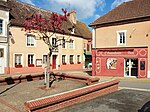
<path id="1" fill-rule="evenodd" d="M 18 2 L 16 0 L 8 0 L 8 6 L 11 9 L 10 14 L 13 17 L 11 19 L 12 26 L 22 27 L 22 23 L 24 23 L 25 19 L 31 17 L 36 13 L 41 13 L 45 17 L 49 17 L 52 13 L 49 10 L 41 9 L 30 4 Z M 75 26 L 75 34 L 71 34 L 71 32 L 68 30 L 68 28 L 72 28 L 72 26 Z M 92 37 L 92 33 L 89 30 L 88 26 L 80 21 L 77 21 L 77 24 L 73 24 L 72 22 L 67 20 L 67 22 L 65 22 L 65 24 L 62 25 L 62 27 L 65 30 L 66 34 L 75 35 L 81 38 L 91 39 Z"/>

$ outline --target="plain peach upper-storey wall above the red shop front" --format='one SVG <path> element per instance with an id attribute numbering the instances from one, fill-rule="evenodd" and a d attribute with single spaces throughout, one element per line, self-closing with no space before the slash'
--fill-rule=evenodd
<path id="1" fill-rule="evenodd" d="M 120 30 L 127 31 L 125 46 L 117 45 L 117 31 Z M 147 34 L 148 36 L 146 36 Z M 150 21 L 101 27 L 96 29 L 96 48 L 143 46 L 150 46 Z M 150 49 L 148 49 L 148 52 L 150 52 Z M 150 53 L 148 53 L 148 59 L 150 59 Z M 150 60 L 148 60 L 148 63 L 150 63 Z M 150 64 L 148 64 L 148 71 L 150 71 Z"/>

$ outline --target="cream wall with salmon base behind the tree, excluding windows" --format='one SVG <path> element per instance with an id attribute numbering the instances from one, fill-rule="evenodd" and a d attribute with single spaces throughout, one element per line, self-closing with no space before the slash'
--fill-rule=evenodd
<path id="1" fill-rule="evenodd" d="M 48 46 L 43 42 L 43 40 L 36 40 L 34 47 L 28 47 L 26 45 L 26 32 L 21 31 L 20 27 L 11 27 L 12 38 L 10 39 L 10 68 L 6 68 L 6 72 L 10 70 L 11 73 L 27 73 L 27 72 L 42 72 L 44 68 L 44 64 L 41 67 L 28 67 L 28 54 L 34 54 L 36 59 L 43 59 L 43 55 L 47 55 Z M 63 37 L 61 34 L 57 34 L 58 37 Z M 55 36 L 53 36 L 55 37 Z M 74 40 L 74 48 L 69 48 L 69 43 L 66 43 L 66 48 L 62 48 L 62 46 L 58 47 L 58 52 L 53 52 L 52 55 L 57 55 L 56 59 L 56 69 L 62 70 L 65 69 L 62 65 L 62 55 L 66 55 L 66 69 L 83 69 L 83 39 L 80 37 L 74 36 L 64 36 L 65 39 L 73 39 Z M 67 41 L 68 41 L 67 40 Z M 23 68 L 15 68 L 15 54 L 22 54 L 23 56 Z M 69 56 L 74 55 L 74 65 L 70 65 Z M 80 64 L 77 64 L 77 55 L 80 55 Z M 35 63 L 34 60 L 34 64 Z M 52 62 L 52 58 L 51 58 Z M 62 65 L 62 66 L 61 66 Z"/>

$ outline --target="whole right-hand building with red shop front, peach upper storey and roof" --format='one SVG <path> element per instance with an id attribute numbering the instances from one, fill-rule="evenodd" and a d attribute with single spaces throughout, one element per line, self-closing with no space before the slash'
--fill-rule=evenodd
<path id="1" fill-rule="evenodd" d="M 93 75 L 150 77 L 150 0 L 124 2 L 93 28 Z"/>

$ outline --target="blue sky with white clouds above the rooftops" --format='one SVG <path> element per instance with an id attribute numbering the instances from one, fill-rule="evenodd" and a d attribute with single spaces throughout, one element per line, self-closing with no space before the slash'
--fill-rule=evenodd
<path id="1" fill-rule="evenodd" d="M 100 16 L 129 0 L 18 0 L 52 12 L 62 13 L 74 9 L 77 19 L 89 25 Z"/>

